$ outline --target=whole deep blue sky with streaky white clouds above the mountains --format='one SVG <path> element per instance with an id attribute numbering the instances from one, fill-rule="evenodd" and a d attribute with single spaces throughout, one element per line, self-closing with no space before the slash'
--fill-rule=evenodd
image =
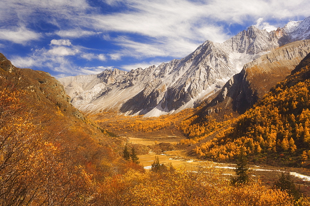
<path id="1" fill-rule="evenodd" d="M 0 52 L 56 78 L 128 71 L 309 15 L 308 0 L 1 0 Z"/>

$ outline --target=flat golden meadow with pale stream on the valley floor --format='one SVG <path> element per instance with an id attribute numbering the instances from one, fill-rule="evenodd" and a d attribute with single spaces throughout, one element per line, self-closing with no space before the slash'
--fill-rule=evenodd
<path id="1" fill-rule="evenodd" d="M 156 141 L 156 142 L 155 142 Z M 143 145 L 155 145 L 161 142 L 175 144 L 179 139 L 169 139 L 160 137 L 130 137 L 128 142 L 133 144 L 143 144 Z M 236 164 L 229 163 L 216 163 L 210 161 L 202 161 L 192 156 L 188 156 L 185 150 L 173 150 L 165 151 L 160 155 L 157 155 L 152 150 L 148 154 L 138 155 L 140 164 L 144 166 L 144 169 L 149 171 L 155 160 L 158 157 L 159 162 L 165 165 L 170 165 L 174 167 L 184 167 L 189 171 L 197 171 L 200 167 L 213 165 L 219 173 L 222 174 L 223 178 L 229 178 L 230 175 L 235 175 L 233 171 Z M 263 184 L 268 186 L 273 186 L 274 182 L 278 180 L 282 172 L 289 172 L 296 183 L 300 186 L 300 190 L 307 195 L 310 195 L 310 171 L 308 169 L 302 168 L 290 168 L 290 167 L 274 167 L 268 165 L 248 165 L 251 169 L 251 175 L 253 180 L 260 180 Z"/>

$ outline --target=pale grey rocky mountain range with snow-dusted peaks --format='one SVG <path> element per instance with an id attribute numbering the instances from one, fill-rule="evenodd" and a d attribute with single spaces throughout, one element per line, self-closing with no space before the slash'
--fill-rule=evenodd
<path id="1" fill-rule="evenodd" d="M 84 112 L 159 116 L 193 107 L 221 89 L 244 64 L 286 43 L 309 39 L 309 30 L 310 17 L 271 32 L 251 26 L 223 43 L 206 41 L 183 59 L 157 67 L 105 70 L 59 81 L 72 104 Z"/>

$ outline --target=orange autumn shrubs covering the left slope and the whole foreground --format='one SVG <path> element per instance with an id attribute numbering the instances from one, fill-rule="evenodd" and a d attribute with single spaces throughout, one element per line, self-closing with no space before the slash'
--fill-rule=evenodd
<path id="1" fill-rule="evenodd" d="M 169 167 L 165 171 L 144 173 L 139 165 L 115 155 L 83 129 L 56 119 L 65 117 L 52 116 L 39 105 L 29 105 L 27 94 L 15 85 L 3 85 L 0 90 L 2 205 L 292 205 L 294 202 L 286 192 L 259 183 L 236 188 L 210 165 L 194 172 Z"/>

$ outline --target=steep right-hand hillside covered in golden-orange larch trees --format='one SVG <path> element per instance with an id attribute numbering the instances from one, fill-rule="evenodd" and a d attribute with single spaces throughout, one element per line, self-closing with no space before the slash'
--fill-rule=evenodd
<path id="1" fill-rule="evenodd" d="M 310 55 L 253 108 L 237 119 L 215 123 L 193 154 L 211 160 L 232 160 L 241 147 L 253 162 L 309 167 Z M 212 120 L 210 121 L 212 122 Z M 199 131 L 199 124 L 195 125 Z M 206 124 L 206 123 L 205 123 Z M 210 124 L 207 124 L 210 128 Z M 212 132 L 217 131 L 212 136 Z M 196 137 L 197 139 L 197 137 Z"/>

